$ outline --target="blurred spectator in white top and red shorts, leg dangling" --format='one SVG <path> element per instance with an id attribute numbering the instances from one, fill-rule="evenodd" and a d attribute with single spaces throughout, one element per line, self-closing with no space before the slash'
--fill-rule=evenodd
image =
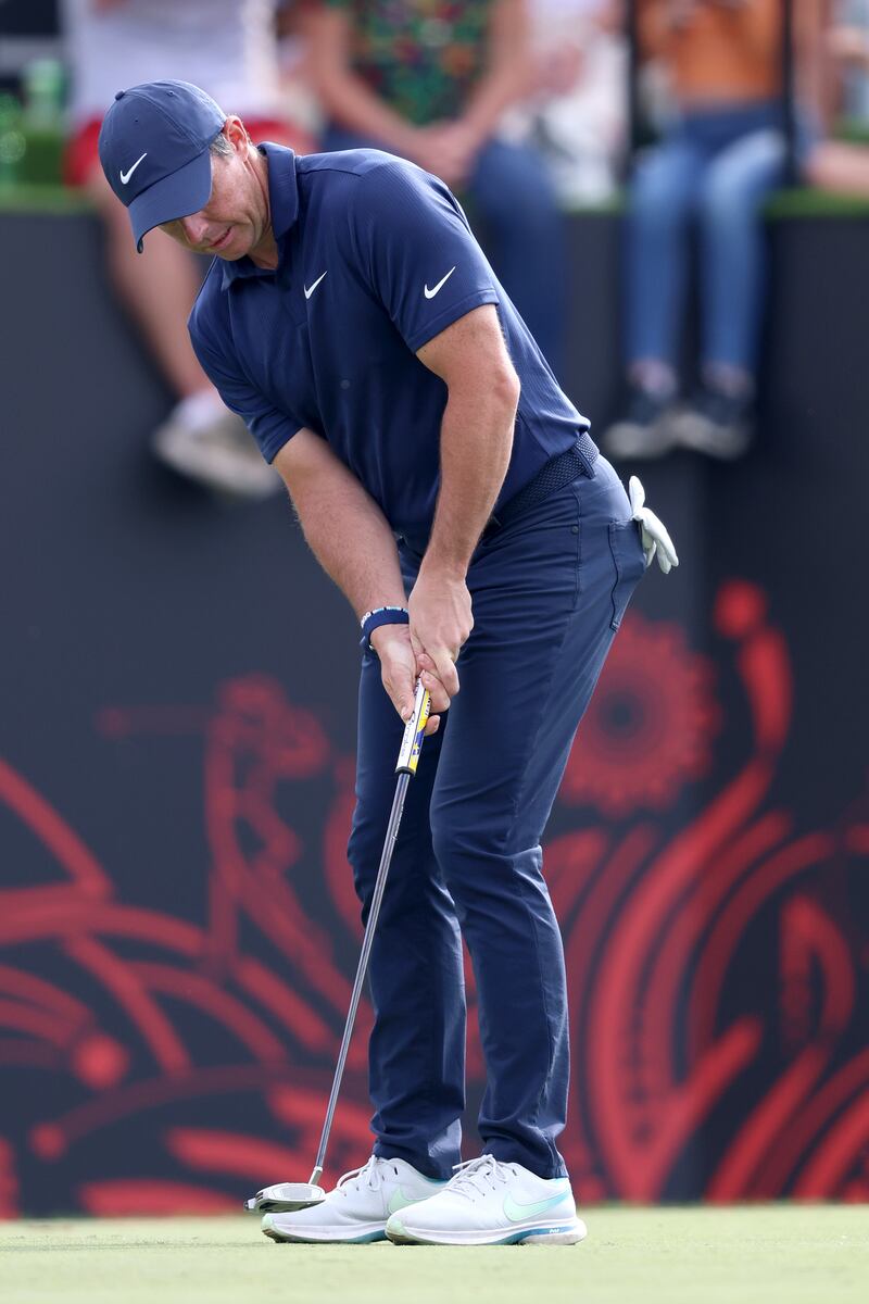
<path id="1" fill-rule="evenodd" d="M 202 372 L 186 318 L 201 271 L 155 232 L 137 254 L 129 218 L 99 164 L 102 116 L 117 90 L 162 77 L 195 82 L 254 140 L 310 147 L 281 112 L 274 0 L 64 0 L 72 74 L 66 180 L 94 197 L 115 288 L 139 326 L 176 406 L 154 450 L 176 471 L 237 497 L 278 492 L 244 422 Z M 130 159 L 130 163 L 134 160 Z"/>

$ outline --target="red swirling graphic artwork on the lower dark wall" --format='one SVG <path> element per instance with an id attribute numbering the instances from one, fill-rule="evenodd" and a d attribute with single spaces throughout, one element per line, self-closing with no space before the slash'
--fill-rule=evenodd
<path id="1" fill-rule="evenodd" d="M 744 582 L 713 621 L 714 662 L 677 625 L 625 619 L 565 773 L 546 849 L 571 987 L 563 1150 L 584 1200 L 865 1200 L 869 941 L 848 900 L 869 820 L 806 829 L 776 805 L 786 642 Z M 155 866 L 146 892 L 0 762 L 21 848 L 0 891 L 0 1071 L 23 1102 L 0 1121 L 0 1217 L 237 1209 L 317 1149 L 361 935 L 352 758 L 258 674 L 211 707 L 107 705 L 95 726 L 109 750 L 201 739 L 184 799 L 202 858 Z M 370 1018 L 363 1001 L 331 1179 L 370 1149 Z"/>

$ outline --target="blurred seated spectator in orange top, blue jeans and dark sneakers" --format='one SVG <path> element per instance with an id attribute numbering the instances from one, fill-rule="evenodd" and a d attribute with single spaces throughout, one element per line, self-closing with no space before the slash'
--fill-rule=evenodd
<path id="1" fill-rule="evenodd" d="M 641 57 L 670 77 L 675 120 L 641 158 L 627 219 L 628 404 L 616 458 L 676 443 L 739 456 L 750 438 L 763 301 L 760 207 L 784 171 L 782 0 L 638 0 Z M 700 386 L 676 411 L 692 220 Z"/>

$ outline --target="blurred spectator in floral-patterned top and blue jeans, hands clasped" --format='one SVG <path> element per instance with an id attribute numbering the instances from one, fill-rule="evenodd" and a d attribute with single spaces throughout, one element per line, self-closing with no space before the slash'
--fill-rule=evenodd
<path id="1" fill-rule="evenodd" d="M 560 373 L 564 219 L 539 154 L 496 136 L 532 89 L 525 0 L 323 0 L 311 70 L 326 150 L 384 149 L 469 193 L 495 271 Z"/>

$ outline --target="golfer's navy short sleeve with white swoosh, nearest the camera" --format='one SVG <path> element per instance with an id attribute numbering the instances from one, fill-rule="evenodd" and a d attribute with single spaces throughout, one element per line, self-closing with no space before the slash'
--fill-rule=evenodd
<path id="1" fill-rule="evenodd" d="M 363 275 L 414 353 L 482 304 L 498 283 L 457 200 L 412 163 L 367 172 L 350 209 Z"/>

